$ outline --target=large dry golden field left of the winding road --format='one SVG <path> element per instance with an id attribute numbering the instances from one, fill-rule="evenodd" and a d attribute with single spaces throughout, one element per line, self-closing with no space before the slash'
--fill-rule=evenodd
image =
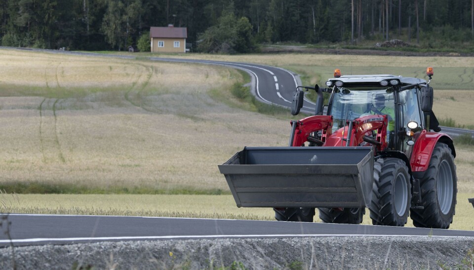
<path id="1" fill-rule="evenodd" d="M 207 94 L 232 99 L 232 69 L 4 50 L 0 66 L 0 183 L 227 190 L 230 153 L 287 140 L 286 121 Z"/>

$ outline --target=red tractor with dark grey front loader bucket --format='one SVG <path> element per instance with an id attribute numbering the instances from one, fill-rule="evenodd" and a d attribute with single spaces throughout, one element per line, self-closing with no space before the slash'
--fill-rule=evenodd
<path id="1" fill-rule="evenodd" d="M 245 147 L 219 165 L 238 207 L 273 207 L 281 221 L 449 228 L 456 205 L 453 140 L 439 133 L 430 80 L 341 76 L 317 93 L 315 115 L 291 121 L 288 147 Z M 299 88 L 299 87 L 298 87 Z M 304 102 L 294 94 L 292 114 Z M 323 106 L 323 92 L 330 93 Z"/>

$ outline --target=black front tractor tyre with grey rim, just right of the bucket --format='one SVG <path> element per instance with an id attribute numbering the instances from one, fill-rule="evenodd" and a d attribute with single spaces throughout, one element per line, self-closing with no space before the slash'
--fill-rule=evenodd
<path id="1" fill-rule="evenodd" d="M 410 174 L 405 162 L 396 158 L 375 161 L 372 202 L 369 207 L 372 224 L 404 226 L 410 204 Z"/>

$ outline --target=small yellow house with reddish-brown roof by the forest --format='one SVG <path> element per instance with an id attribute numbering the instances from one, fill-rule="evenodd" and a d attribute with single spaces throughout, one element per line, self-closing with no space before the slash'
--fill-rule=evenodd
<path id="1" fill-rule="evenodd" d="M 186 27 L 150 27 L 151 51 L 185 53 L 188 29 Z"/>

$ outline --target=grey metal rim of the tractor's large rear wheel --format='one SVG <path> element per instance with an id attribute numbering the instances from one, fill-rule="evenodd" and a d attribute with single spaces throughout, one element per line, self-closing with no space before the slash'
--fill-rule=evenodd
<path id="1" fill-rule="evenodd" d="M 453 203 L 453 174 L 451 166 L 446 160 L 443 160 L 439 166 L 436 179 L 436 193 L 441 212 L 447 214 Z"/>

